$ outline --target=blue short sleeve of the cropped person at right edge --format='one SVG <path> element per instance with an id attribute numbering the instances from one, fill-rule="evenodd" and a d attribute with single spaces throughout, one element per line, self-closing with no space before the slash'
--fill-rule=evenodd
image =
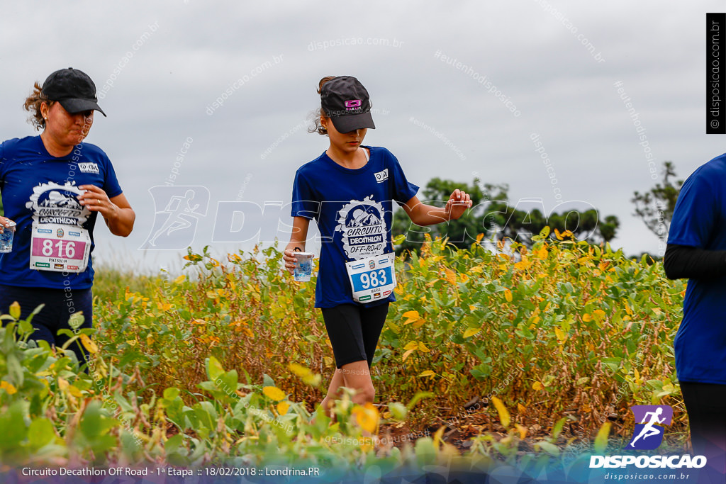
<path id="1" fill-rule="evenodd" d="M 708 248 L 711 232 L 719 217 L 718 194 L 709 176 L 699 169 L 683 184 L 673 210 L 668 243 Z"/>

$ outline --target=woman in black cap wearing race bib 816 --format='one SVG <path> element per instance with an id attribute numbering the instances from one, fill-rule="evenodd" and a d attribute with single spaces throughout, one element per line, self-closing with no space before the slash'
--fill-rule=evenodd
<path id="1" fill-rule="evenodd" d="M 96 86 L 81 70 L 57 70 L 35 83 L 25 110 L 40 136 L 0 144 L 0 194 L 5 217 L 0 230 L 17 223 L 12 251 L 0 254 L 0 314 L 20 304 L 21 319 L 44 304 L 31 321 L 32 340 L 61 348 L 70 337 L 73 313 L 83 325 L 93 319 L 91 252 L 97 214 L 112 234 L 126 237 L 134 210 L 118 185 L 105 152 L 83 143 L 94 120 Z M 69 347 L 81 366 L 88 353 L 78 340 Z M 87 369 L 86 369 L 87 371 Z"/>

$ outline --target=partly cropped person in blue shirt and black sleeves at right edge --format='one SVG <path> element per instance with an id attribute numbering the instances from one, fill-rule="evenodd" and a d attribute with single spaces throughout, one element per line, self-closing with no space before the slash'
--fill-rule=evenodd
<path id="1" fill-rule="evenodd" d="M 676 373 L 693 452 L 706 456 L 707 468 L 714 473 L 711 482 L 724 483 L 726 155 L 701 165 L 683 184 L 673 210 L 663 266 L 669 279 L 689 279 L 683 320 L 674 339 Z"/>

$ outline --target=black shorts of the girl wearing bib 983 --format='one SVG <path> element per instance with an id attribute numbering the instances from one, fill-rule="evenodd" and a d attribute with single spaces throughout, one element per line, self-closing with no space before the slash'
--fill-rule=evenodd
<path id="1" fill-rule="evenodd" d="M 388 303 L 366 308 L 358 304 L 341 304 L 322 308 L 327 336 L 333 345 L 335 366 L 354 361 L 373 361 L 378 337 L 388 314 Z"/>

